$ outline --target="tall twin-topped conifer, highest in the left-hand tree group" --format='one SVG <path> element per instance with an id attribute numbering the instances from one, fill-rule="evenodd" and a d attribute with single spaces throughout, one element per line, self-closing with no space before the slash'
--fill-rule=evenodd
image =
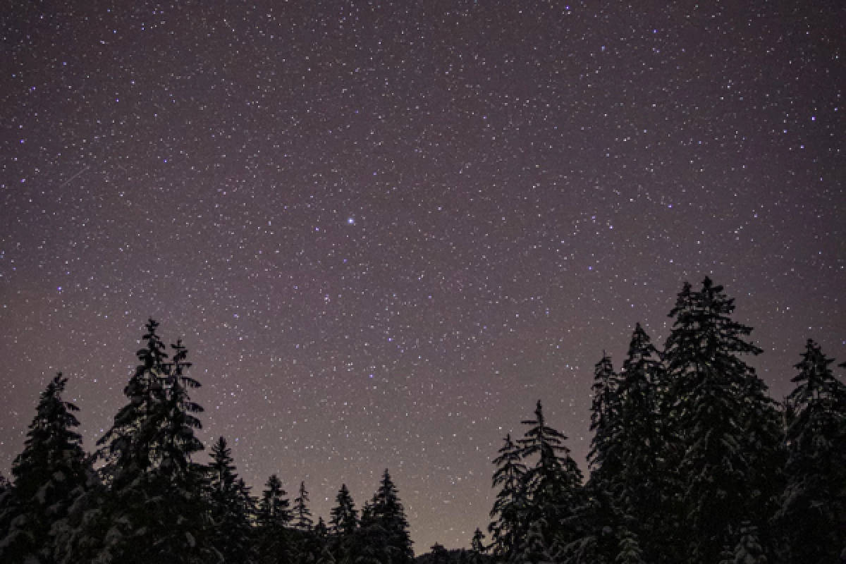
<path id="1" fill-rule="evenodd" d="M 81 537 L 101 534 L 96 559 L 104 562 L 211 562 L 206 472 L 192 460 L 203 448 L 194 434 L 202 408 L 188 389 L 200 384 L 185 375 L 190 363 L 181 342 L 166 362 L 157 326 L 147 323 L 141 364 L 124 388 L 129 403 L 97 443 L 107 499 Z"/>

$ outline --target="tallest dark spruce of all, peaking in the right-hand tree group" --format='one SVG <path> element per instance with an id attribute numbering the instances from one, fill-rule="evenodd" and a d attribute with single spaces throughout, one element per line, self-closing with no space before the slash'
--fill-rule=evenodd
<path id="1" fill-rule="evenodd" d="M 744 518 L 753 517 L 750 478 L 761 468 L 756 468 L 759 458 L 749 452 L 747 437 L 765 434 L 777 419 L 766 397 L 747 396 L 750 389 L 764 391 L 766 386 L 740 355 L 761 349 L 745 340 L 752 329 L 732 320 L 733 311 L 733 299 L 706 277 L 698 292 L 685 283 L 670 312 L 668 416 L 684 445 L 678 463 L 679 517 L 688 561 L 695 564 L 717 561 Z"/>

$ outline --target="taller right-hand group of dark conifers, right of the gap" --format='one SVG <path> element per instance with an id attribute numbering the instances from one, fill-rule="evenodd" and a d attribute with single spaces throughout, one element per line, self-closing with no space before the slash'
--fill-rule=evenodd
<path id="1" fill-rule="evenodd" d="M 733 310 L 711 279 L 685 283 L 663 350 L 637 325 L 621 370 L 603 353 L 586 481 L 537 403 L 494 460 L 496 561 L 846 561 L 846 386 L 809 339 L 775 402 Z"/>

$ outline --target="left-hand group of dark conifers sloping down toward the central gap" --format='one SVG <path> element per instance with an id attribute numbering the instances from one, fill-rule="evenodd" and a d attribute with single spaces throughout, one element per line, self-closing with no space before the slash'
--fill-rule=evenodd
<path id="1" fill-rule="evenodd" d="M 59 374 L 39 397 L 13 480 L 0 484 L 0 561 L 8 564 L 409 564 L 414 558 L 387 469 L 359 512 L 342 485 L 329 522 L 315 523 L 305 482 L 293 505 L 276 474 L 261 496 L 239 478 L 221 437 L 211 462 L 195 435 L 202 408 L 189 392 L 182 342 L 172 356 L 150 320 L 128 402 L 91 455 L 75 431 Z"/>

